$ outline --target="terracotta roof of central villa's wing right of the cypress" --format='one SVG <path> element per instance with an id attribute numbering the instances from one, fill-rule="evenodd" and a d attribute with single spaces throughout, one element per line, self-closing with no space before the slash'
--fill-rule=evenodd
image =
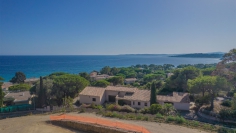
<path id="1" fill-rule="evenodd" d="M 171 96 L 157 95 L 157 101 L 189 103 L 190 99 L 188 93 L 173 92 Z"/>

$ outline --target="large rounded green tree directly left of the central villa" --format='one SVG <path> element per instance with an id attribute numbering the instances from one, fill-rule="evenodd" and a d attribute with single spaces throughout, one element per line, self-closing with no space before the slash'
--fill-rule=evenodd
<path id="1" fill-rule="evenodd" d="M 61 105 L 63 98 L 70 96 L 75 98 L 80 91 L 82 91 L 89 82 L 78 75 L 61 75 L 54 79 L 52 95 L 57 99 L 57 103 Z"/>

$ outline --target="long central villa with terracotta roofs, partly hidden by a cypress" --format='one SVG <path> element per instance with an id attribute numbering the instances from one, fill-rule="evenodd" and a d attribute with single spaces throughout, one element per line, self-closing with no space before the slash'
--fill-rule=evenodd
<path id="1" fill-rule="evenodd" d="M 133 108 L 150 107 L 150 90 L 139 90 L 138 88 L 107 86 L 86 87 L 80 94 L 80 103 L 101 105 L 105 102 L 122 103 Z M 157 103 L 171 103 L 178 110 L 189 110 L 190 100 L 188 93 L 173 92 L 171 96 L 157 95 Z"/>

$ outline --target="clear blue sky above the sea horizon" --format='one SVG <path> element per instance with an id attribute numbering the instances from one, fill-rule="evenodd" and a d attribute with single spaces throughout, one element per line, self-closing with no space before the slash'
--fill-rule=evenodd
<path id="1" fill-rule="evenodd" d="M 228 52 L 236 0 L 0 0 L 0 55 Z"/>

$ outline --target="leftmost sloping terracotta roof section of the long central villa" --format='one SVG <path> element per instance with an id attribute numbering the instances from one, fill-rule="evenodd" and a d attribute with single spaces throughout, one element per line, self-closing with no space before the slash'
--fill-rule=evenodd
<path id="1" fill-rule="evenodd" d="M 84 88 L 82 92 L 80 92 L 80 95 L 102 96 L 104 92 L 105 92 L 105 88 L 88 86 Z"/>

